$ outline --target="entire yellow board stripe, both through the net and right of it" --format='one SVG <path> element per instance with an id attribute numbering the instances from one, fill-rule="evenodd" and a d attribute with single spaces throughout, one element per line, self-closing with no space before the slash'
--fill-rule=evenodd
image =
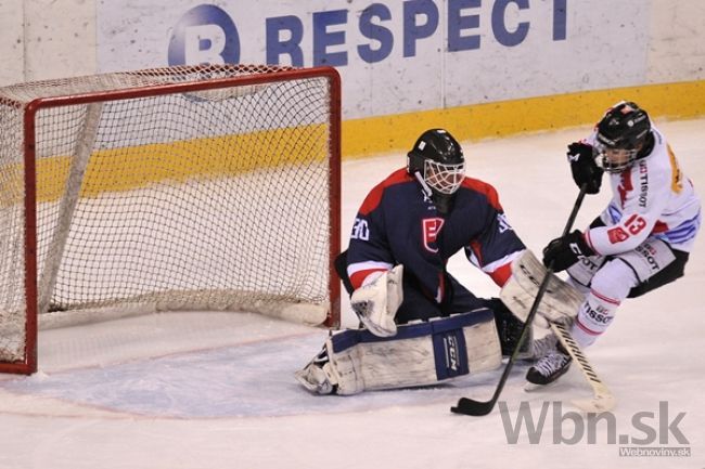
<path id="1" fill-rule="evenodd" d="M 438 127 L 448 129 L 460 141 L 477 141 L 591 126 L 608 106 L 625 99 L 636 101 L 656 119 L 694 118 L 705 115 L 705 80 L 347 120 L 343 122 L 343 158 L 407 152 L 424 130 Z M 164 180 L 232 175 L 258 168 L 323 161 L 328 155 L 326 132 L 324 125 L 304 126 L 94 152 L 81 196 L 131 190 Z M 68 156 L 38 159 L 39 201 L 61 197 L 69 165 Z M 20 203 L 24 187 L 22 165 L 8 165 L 2 172 L 7 174 L 0 180 L 0 190 L 5 194 L 2 205 Z"/>

